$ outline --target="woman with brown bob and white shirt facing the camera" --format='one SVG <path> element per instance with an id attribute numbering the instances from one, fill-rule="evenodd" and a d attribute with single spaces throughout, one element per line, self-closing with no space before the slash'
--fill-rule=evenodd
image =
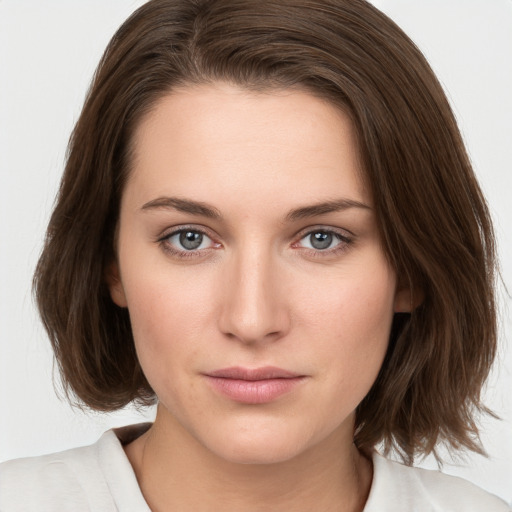
<path id="1" fill-rule="evenodd" d="M 2 510 L 507 510 L 494 242 L 446 98 L 362 1 L 164 1 L 114 36 L 36 294 L 65 381 L 153 425 L 3 466 Z"/>

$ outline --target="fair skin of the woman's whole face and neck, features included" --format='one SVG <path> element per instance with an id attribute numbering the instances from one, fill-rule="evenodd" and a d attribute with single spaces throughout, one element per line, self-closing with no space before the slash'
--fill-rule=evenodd
<path id="1" fill-rule="evenodd" d="M 355 409 L 410 297 L 356 147 L 298 89 L 183 88 L 138 126 L 109 284 L 159 399 L 126 447 L 152 510 L 363 509 Z"/>

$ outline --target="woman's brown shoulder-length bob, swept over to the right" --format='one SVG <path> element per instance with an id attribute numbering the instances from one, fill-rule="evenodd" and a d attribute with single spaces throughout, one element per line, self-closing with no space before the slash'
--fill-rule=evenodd
<path id="1" fill-rule="evenodd" d="M 385 251 L 421 297 L 395 317 L 356 444 L 409 463 L 439 442 L 480 451 L 474 414 L 496 350 L 489 213 L 425 58 L 364 0 L 153 0 L 121 26 L 72 134 L 34 278 L 68 391 L 106 411 L 154 400 L 105 268 L 135 126 L 174 87 L 216 80 L 298 85 L 354 122 Z"/>

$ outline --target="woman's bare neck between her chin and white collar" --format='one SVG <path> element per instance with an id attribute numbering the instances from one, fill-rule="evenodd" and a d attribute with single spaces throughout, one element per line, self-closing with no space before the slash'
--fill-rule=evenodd
<path id="1" fill-rule="evenodd" d="M 334 432 L 296 457 L 239 464 L 212 453 L 179 425 L 155 424 L 125 450 L 151 510 L 360 512 L 371 462 Z"/>

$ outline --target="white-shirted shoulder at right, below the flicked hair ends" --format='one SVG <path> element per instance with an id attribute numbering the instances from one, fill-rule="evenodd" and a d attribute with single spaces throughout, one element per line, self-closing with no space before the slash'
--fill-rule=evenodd
<path id="1" fill-rule="evenodd" d="M 462 478 L 404 466 L 373 455 L 374 477 L 364 512 L 510 512 L 497 496 Z"/>

